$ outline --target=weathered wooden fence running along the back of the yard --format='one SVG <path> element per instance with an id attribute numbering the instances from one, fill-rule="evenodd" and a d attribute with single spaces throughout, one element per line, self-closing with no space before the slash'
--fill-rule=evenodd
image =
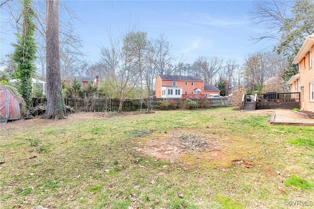
<path id="1" fill-rule="evenodd" d="M 122 111 L 134 111 L 139 109 L 158 109 L 160 102 L 176 103 L 177 109 L 182 109 L 184 101 L 183 98 L 145 98 L 145 99 L 134 99 L 125 101 L 122 105 Z M 234 104 L 227 97 L 221 98 L 191 98 L 197 104 L 198 108 L 211 108 L 211 107 L 224 107 L 233 106 Z M 45 103 L 46 98 L 33 99 L 33 106 Z M 71 106 L 76 111 L 87 111 L 87 112 L 105 112 L 105 111 L 118 111 L 120 100 L 118 99 L 80 99 L 80 98 L 65 98 L 65 105 Z"/>

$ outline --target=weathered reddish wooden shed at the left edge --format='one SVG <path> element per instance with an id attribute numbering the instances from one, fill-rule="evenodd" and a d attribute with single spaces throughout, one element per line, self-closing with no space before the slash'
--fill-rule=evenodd
<path id="1" fill-rule="evenodd" d="M 20 100 L 7 86 L 0 85 L 0 124 L 21 118 Z"/>

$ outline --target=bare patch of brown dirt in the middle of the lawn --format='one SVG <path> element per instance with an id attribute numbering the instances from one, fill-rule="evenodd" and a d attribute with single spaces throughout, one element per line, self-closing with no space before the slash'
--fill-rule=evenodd
<path id="1" fill-rule="evenodd" d="M 174 162 L 183 155 L 206 153 L 212 159 L 225 158 L 221 151 L 222 143 L 217 138 L 204 134 L 166 133 L 164 139 L 151 139 L 144 148 L 136 150 L 157 160 Z M 203 156 L 204 157 L 204 156 Z"/>

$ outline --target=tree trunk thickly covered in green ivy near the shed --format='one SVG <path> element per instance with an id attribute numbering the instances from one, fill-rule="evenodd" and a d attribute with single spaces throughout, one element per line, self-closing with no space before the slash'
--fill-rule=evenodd
<path id="1" fill-rule="evenodd" d="M 22 4 L 23 30 L 22 35 L 18 35 L 18 44 L 13 45 L 15 47 L 13 59 L 18 63 L 16 78 L 20 79 L 19 91 L 28 109 L 31 106 L 33 60 L 36 59 L 36 45 L 33 39 L 35 25 L 32 22 L 35 14 L 31 8 L 31 0 L 24 0 Z"/>

